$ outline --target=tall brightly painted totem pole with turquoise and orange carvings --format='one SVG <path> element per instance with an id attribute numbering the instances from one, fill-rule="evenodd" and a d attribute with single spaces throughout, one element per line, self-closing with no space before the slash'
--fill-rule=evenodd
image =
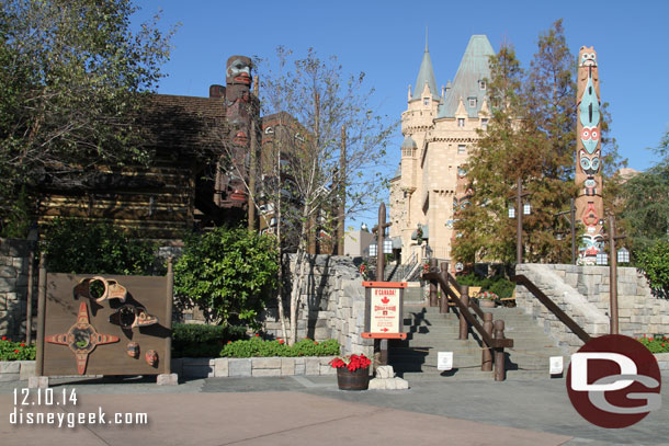
<path id="1" fill-rule="evenodd" d="M 601 112 L 597 53 L 581 47 L 578 54 L 578 119 L 576 145 L 577 221 L 586 226 L 579 248 L 579 263 L 596 264 L 597 254 L 603 252 L 601 176 Z"/>

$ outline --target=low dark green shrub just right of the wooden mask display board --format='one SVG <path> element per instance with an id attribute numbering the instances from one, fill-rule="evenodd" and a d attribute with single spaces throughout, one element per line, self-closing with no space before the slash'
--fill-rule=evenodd
<path id="1" fill-rule="evenodd" d="M 228 341 L 246 338 L 245 327 L 175 323 L 172 325 L 172 356 L 216 357 Z"/>

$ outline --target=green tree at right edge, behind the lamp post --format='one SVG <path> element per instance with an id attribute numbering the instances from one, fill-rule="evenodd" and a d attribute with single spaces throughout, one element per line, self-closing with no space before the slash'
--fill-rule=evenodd
<path id="1" fill-rule="evenodd" d="M 660 161 L 621 185 L 621 216 L 634 254 L 669 237 L 669 131 L 654 150 Z"/>

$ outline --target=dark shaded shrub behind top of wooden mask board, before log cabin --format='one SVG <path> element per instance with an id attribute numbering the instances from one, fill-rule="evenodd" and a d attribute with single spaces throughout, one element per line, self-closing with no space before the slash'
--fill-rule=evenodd
<path id="1" fill-rule="evenodd" d="M 49 271 L 70 274 L 147 275 L 155 249 L 110 224 L 82 219 L 54 220 L 42 243 Z"/>

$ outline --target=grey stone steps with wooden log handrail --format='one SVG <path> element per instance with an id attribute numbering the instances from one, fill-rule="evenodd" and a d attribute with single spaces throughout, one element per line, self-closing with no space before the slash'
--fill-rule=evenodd
<path id="1" fill-rule="evenodd" d="M 503 319 L 507 338 L 513 348 L 504 350 L 508 379 L 549 378 L 548 358 L 564 356 L 556 343 L 519 308 L 483 309 L 494 319 Z M 475 330 L 469 339 L 457 340 L 457 313 L 440 315 L 439 308 L 421 301 L 405 301 L 406 341 L 392 341 L 389 363 L 398 376 L 409 380 L 494 379 L 492 371 L 481 371 L 481 341 Z M 453 352 L 453 369 L 436 369 L 438 352 Z M 567 358 L 565 357 L 565 363 Z M 565 364 L 565 369 L 566 369 Z"/>

